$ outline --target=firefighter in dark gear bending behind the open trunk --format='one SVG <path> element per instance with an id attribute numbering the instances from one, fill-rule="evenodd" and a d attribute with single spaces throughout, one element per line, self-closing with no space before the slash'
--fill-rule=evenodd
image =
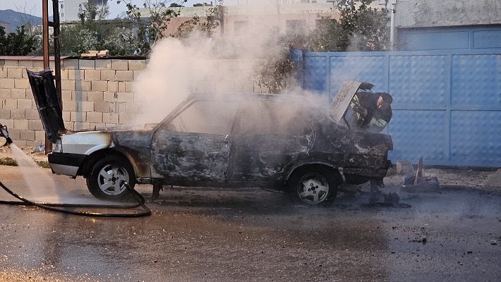
<path id="1" fill-rule="evenodd" d="M 357 92 L 351 100 L 351 128 L 380 133 L 392 119 L 392 95 L 385 92 Z"/>

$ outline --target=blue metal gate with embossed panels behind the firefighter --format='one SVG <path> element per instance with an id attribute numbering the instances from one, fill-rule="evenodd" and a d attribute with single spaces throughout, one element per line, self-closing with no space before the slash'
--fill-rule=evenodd
<path id="1" fill-rule="evenodd" d="M 344 80 L 394 97 L 393 162 L 501 167 L 501 49 L 303 54 L 303 87 L 330 99 Z"/>

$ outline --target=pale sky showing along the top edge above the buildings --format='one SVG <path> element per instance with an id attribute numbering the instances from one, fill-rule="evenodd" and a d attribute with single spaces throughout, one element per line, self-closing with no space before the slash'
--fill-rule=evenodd
<path id="1" fill-rule="evenodd" d="M 32 16 L 37 16 L 42 18 L 42 1 L 44 0 L 0 0 L 0 10 L 8 10 L 11 9 L 13 11 L 18 11 L 22 13 L 28 13 Z M 68 1 L 68 0 L 66 0 Z M 69 0 L 71 1 L 71 0 Z M 78 0 L 73 0 L 78 1 Z M 85 1 L 85 0 L 82 0 Z M 132 1 L 133 4 L 138 6 L 142 6 L 145 0 L 126 0 Z M 155 0 L 150 0 L 155 1 Z M 178 0 L 179 1 L 179 0 Z M 193 4 L 197 3 L 210 3 L 211 0 L 188 0 L 183 6 L 193 6 Z M 246 5 L 250 4 L 249 2 L 253 1 L 261 1 L 261 2 L 269 2 L 266 0 L 226 0 L 224 1 L 225 5 Z M 217 0 L 212 0 L 213 4 L 216 4 Z M 49 16 L 52 16 L 52 0 L 48 0 L 49 4 Z M 126 11 L 126 5 L 121 2 L 121 4 L 116 4 L 116 0 L 108 0 L 109 6 L 109 18 L 115 18 L 121 12 Z"/>

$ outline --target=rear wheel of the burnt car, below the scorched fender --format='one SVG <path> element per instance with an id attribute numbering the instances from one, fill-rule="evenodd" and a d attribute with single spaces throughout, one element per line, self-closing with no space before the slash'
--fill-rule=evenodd
<path id="1" fill-rule="evenodd" d="M 331 204 L 337 195 L 335 173 L 326 166 L 298 168 L 287 181 L 291 201 L 310 206 Z"/>

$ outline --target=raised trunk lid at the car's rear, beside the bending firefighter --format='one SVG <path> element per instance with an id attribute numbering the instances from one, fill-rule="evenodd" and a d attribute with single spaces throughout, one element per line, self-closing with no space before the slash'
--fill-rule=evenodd
<path id="1" fill-rule="evenodd" d="M 351 99 L 355 96 L 358 90 L 370 90 L 374 85 L 368 82 L 360 82 L 355 80 L 347 80 L 334 97 L 330 105 L 330 116 L 336 123 L 339 124 L 344 119 L 344 114 L 348 111 Z"/>

